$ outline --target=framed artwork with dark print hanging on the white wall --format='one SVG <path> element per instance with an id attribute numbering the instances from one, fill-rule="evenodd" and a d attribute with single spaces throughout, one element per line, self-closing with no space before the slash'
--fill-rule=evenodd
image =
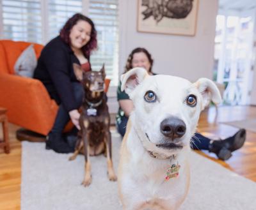
<path id="1" fill-rule="evenodd" d="M 138 0 L 140 32 L 195 36 L 199 0 Z"/>

